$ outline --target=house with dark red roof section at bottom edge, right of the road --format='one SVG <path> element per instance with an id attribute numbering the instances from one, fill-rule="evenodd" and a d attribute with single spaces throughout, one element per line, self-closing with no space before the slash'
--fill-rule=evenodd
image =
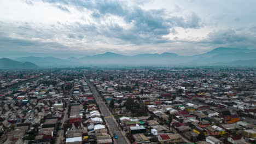
<path id="1" fill-rule="evenodd" d="M 158 137 L 158 141 L 161 144 L 183 142 L 182 136 L 179 134 L 158 135 L 157 137 Z"/>

